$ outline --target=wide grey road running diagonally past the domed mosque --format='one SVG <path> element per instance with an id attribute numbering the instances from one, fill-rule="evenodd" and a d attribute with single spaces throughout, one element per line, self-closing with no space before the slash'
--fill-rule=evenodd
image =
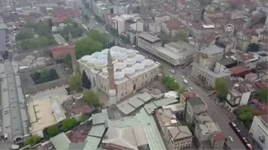
<path id="1" fill-rule="evenodd" d="M 96 29 L 99 28 L 100 31 L 106 31 L 103 25 L 96 22 L 96 20 L 92 18 L 93 14 L 90 10 L 87 10 L 87 8 L 84 8 L 84 10 L 87 13 L 87 15 L 91 17 L 91 20 L 89 22 L 91 22 L 92 24 L 97 23 L 98 26 L 97 27 L 95 26 L 93 28 L 96 28 Z M 115 38 L 115 40 L 117 40 L 117 42 L 120 44 L 121 47 L 131 48 L 130 45 L 124 44 L 123 42 L 121 42 L 121 40 L 119 40 L 117 37 L 114 37 L 112 34 L 110 34 L 110 36 L 112 38 Z M 140 53 L 147 58 L 151 56 L 150 54 L 144 53 L 144 51 L 140 51 Z M 161 62 L 161 60 L 158 60 L 158 61 Z M 195 85 L 193 82 L 191 82 L 189 78 L 187 77 L 186 77 L 186 80 L 188 81 L 188 84 L 185 85 L 183 82 L 183 78 L 182 78 L 183 75 L 181 74 L 181 71 L 177 72 L 176 74 L 171 74 L 169 71 L 170 69 L 173 69 L 173 68 L 170 68 L 168 65 L 165 65 L 165 63 L 163 62 L 161 63 L 165 69 L 165 72 L 173 76 L 175 80 L 179 83 L 179 85 L 184 85 L 186 88 L 192 87 L 194 89 L 194 92 L 196 92 L 199 95 L 199 97 L 201 97 L 203 101 L 207 103 L 208 113 L 211 116 L 211 118 L 214 119 L 214 121 L 218 123 L 218 126 L 220 126 L 221 131 L 225 134 L 226 137 L 232 136 L 232 138 L 234 139 L 234 142 L 230 142 L 228 140 L 229 147 L 233 150 L 236 150 L 236 149 L 246 150 L 246 147 L 244 147 L 244 144 L 242 144 L 241 140 L 237 137 L 237 135 L 234 133 L 232 128 L 230 128 L 229 126 L 230 119 L 225 116 L 221 108 L 218 108 L 216 102 L 210 99 L 209 97 L 207 97 L 207 93 L 204 92 L 204 90 L 199 88 L 197 85 Z"/>

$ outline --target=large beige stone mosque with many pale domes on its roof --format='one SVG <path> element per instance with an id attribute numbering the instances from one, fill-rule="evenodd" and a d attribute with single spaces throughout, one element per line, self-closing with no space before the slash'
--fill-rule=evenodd
<path id="1" fill-rule="evenodd" d="M 107 70 L 107 53 L 110 51 L 114 66 L 114 84 L 117 101 L 135 93 L 148 83 L 155 81 L 159 74 L 158 64 L 145 59 L 133 49 L 112 47 L 91 56 L 77 60 L 80 72 L 86 72 L 91 86 L 109 94 L 109 76 Z M 116 102 L 116 101 L 114 101 Z M 113 102 L 113 103 L 114 103 Z"/>

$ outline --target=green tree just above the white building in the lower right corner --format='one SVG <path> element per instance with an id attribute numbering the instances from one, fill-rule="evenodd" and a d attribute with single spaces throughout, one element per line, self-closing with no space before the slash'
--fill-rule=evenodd
<path id="1" fill-rule="evenodd" d="M 247 128 L 251 127 L 251 123 L 255 115 L 258 115 L 258 111 L 256 111 L 255 108 L 253 108 L 253 106 L 239 107 L 238 117 Z"/>

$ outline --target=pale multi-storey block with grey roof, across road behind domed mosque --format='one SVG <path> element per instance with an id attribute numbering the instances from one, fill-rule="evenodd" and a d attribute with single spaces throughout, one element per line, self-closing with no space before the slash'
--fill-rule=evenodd
<path id="1" fill-rule="evenodd" d="M 145 51 L 153 51 L 154 47 L 161 47 L 161 39 L 157 38 L 154 35 L 150 35 L 147 33 L 140 33 L 137 35 L 137 47 L 140 49 L 144 49 Z"/>

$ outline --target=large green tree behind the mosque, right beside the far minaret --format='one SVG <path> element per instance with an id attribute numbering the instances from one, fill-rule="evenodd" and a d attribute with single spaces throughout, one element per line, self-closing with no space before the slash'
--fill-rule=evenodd
<path id="1" fill-rule="evenodd" d="M 84 38 L 75 42 L 75 53 L 77 59 L 85 55 L 91 55 L 92 53 L 101 50 L 103 50 L 103 44 L 101 44 L 101 42 L 93 40 L 92 38 Z"/>

